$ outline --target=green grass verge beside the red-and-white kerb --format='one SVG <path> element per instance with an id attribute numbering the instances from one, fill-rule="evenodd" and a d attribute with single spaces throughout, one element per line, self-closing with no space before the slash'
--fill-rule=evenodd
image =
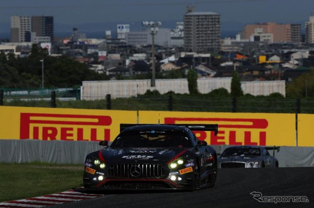
<path id="1" fill-rule="evenodd" d="M 83 165 L 0 163 L 0 202 L 82 186 Z"/>

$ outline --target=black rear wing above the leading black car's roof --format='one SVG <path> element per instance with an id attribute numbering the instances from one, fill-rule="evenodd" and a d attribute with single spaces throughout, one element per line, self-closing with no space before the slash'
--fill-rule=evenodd
<path id="1" fill-rule="evenodd" d="M 129 127 L 143 126 L 143 125 L 154 125 L 154 124 L 120 124 L 120 132 Z M 185 127 L 190 130 L 214 131 L 215 135 L 217 135 L 218 133 L 218 124 L 195 124 L 195 125 L 193 124 L 159 124 L 159 125 L 171 125 L 171 126 Z"/>

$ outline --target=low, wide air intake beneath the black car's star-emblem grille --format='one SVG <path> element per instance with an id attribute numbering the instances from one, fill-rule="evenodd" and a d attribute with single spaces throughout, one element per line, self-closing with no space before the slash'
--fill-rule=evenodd
<path id="1" fill-rule="evenodd" d="M 164 189 L 170 188 L 164 182 L 107 182 L 103 188 L 113 189 Z"/>

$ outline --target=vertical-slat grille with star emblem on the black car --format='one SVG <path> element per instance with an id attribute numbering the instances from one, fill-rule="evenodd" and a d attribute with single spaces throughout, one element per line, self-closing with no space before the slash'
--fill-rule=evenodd
<path id="1" fill-rule="evenodd" d="M 132 178 L 160 178 L 165 174 L 161 165 L 156 164 L 117 164 L 109 168 L 110 177 Z"/>

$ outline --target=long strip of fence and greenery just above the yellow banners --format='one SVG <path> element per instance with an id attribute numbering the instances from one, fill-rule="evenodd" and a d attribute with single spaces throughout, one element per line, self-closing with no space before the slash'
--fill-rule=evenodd
<path id="1" fill-rule="evenodd" d="M 115 110 L 163 110 L 202 112 L 314 113 L 314 98 L 270 96 L 212 97 L 207 94 L 137 95 L 131 98 L 107 94 L 103 100 L 80 100 L 79 89 L 0 90 L 0 105 Z"/>

